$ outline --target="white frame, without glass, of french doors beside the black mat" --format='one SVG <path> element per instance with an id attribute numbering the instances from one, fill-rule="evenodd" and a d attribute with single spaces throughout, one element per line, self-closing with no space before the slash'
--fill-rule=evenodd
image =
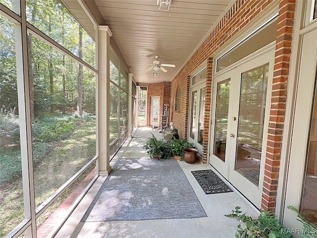
<path id="1" fill-rule="evenodd" d="M 239 104 L 240 104 L 240 82 L 241 82 L 241 73 L 248 71 L 250 69 L 256 68 L 258 66 L 264 65 L 265 63 L 269 63 L 269 75 L 267 82 L 267 92 L 266 92 L 266 108 L 265 108 L 265 120 L 264 120 L 264 130 L 263 130 L 263 142 L 266 142 L 267 139 L 267 126 L 268 126 L 268 115 L 270 110 L 270 98 L 271 98 L 271 88 L 272 88 L 272 78 L 273 78 L 273 66 L 274 66 L 274 48 L 268 46 L 265 50 L 263 49 L 261 53 L 246 58 L 243 60 L 241 64 L 236 66 L 235 68 L 231 68 L 231 70 L 227 70 L 224 73 L 216 75 L 213 80 L 213 88 L 217 88 L 216 83 L 220 80 L 224 80 L 225 78 L 231 78 L 230 85 L 230 98 L 231 109 L 229 109 L 228 113 L 228 130 L 227 130 L 227 148 L 226 148 L 226 162 L 222 162 L 219 158 L 214 158 L 213 146 L 214 146 L 214 119 L 215 119 L 215 95 L 216 92 L 213 92 L 213 101 L 212 101 L 212 110 L 211 110 L 211 133 L 210 133 L 210 163 L 224 178 L 228 179 L 228 181 L 235 186 L 245 197 L 247 197 L 256 207 L 260 209 L 261 207 L 261 199 L 262 199 L 262 187 L 263 187 L 263 179 L 264 179 L 264 164 L 265 164 L 265 150 L 266 143 L 262 146 L 262 158 L 261 158 L 261 166 L 260 166 L 260 179 L 259 185 L 254 184 L 249 179 L 246 179 L 240 173 L 235 171 L 236 164 L 236 134 L 238 130 L 238 120 L 234 121 L 233 117 L 238 119 L 239 116 Z M 231 88 L 233 90 L 231 90 Z M 231 93 L 233 91 L 233 93 Z M 230 112 L 230 110 L 232 110 Z M 235 137 L 230 137 L 230 134 L 235 134 Z M 219 161 L 220 160 L 220 161 Z M 222 163 L 221 163 L 222 162 Z M 213 164 L 214 163 L 214 164 Z"/>

